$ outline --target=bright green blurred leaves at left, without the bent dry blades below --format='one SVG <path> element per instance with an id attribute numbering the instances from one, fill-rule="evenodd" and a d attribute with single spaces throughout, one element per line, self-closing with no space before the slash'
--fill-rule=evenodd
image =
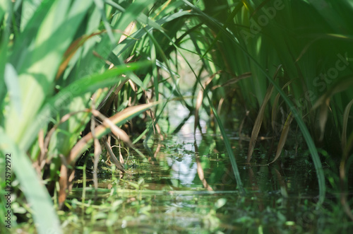
<path id="1" fill-rule="evenodd" d="M 140 69 L 148 73 L 151 63 L 126 66 L 124 60 L 131 55 L 147 60 L 149 52 L 133 49 L 145 40 L 148 30 L 162 30 L 160 23 L 143 13 L 150 4 L 152 1 L 135 1 L 124 6 L 113 1 L 107 4 L 103 1 L 85 1 L 85 4 L 82 1 L 1 1 L 1 83 L 4 84 L 0 90 L 1 142 L 4 142 L 1 156 L 16 155 L 13 171 L 32 204 L 40 233 L 46 233 L 49 227 L 60 232 L 60 228 L 49 194 L 32 163 L 43 174 L 42 163 L 47 160 L 52 171 L 49 181 L 55 184 L 61 167 L 59 156 L 68 156 L 90 115 L 78 112 L 61 124 L 56 119 L 90 108 L 90 97 L 97 90 L 100 93 L 97 100 L 101 101 L 108 94 L 102 88 L 126 82 L 122 74 L 136 83 L 136 93 L 140 93 L 137 98 L 141 97 L 150 76 L 141 81 L 136 75 L 138 72 L 132 71 Z M 169 19 L 160 21 L 165 23 Z M 126 28 L 132 31 L 124 33 Z M 136 33 L 130 37 L 133 31 Z M 125 40 L 124 35 L 128 36 Z M 115 67 L 108 71 L 112 65 Z M 123 86 L 118 93 L 120 103 L 116 105 L 120 110 L 128 107 L 129 96 L 136 98 L 131 90 Z M 136 112 L 125 115 L 116 124 L 123 124 L 133 115 Z M 37 147 L 42 144 L 38 134 L 47 136 L 53 124 L 57 125 L 56 131 L 47 139 L 48 148 Z M 47 158 L 42 158 L 43 153 Z M 45 173 L 43 177 L 47 179 Z"/>

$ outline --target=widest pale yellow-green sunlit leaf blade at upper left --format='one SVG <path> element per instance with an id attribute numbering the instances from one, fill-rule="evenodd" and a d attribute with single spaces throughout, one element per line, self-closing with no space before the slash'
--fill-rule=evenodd
<path id="1" fill-rule="evenodd" d="M 43 1 L 41 7 L 44 7 L 44 3 L 47 1 Z M 26 36 L 32 33 L 31 27 L 35 27 L 32 23 L 42 22 L 35 36 L 28 39 L 30 40 L 28 47 L 16 43 L 16 52 L 12 54 L 11 60 L 18 71 L 23 115 L 16 117 L 16 110 L 11 107 L 5 117 L 6 132 L 16 142 L 19 142 L 26 130 L 31 127 L 47 96 L 52 95 L 54 88 L 52 81 L 62 55 L 91 4 L 92 1 L 85 1 L 85 4 L 79 0 L 54 1 L 49 10 L 45 9 L 46 14 L 43 13 L 44 9 L 35 14 L 32 19 L 37 22 L 30 21 L 22 39 L 18 40 L 18 43 L 23 42 Z M 72 7 L 69 8 L 70 6 Z M 37 18 L 41 16 L 44 16 L 44 19 Z M 13 130 L 13 126 L 16 126 L 16 131 Z"/>

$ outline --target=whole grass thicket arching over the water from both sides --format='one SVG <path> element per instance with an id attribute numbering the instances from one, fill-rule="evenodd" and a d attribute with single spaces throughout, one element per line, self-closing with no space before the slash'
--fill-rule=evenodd
<path id="1" fill-rule="evenodd" d="M 297 134 L 318 177 L 318 206 L 327 186 L 323 155 L 335 158 L 340 205 L 353 220 L 345 197 L 352 14 L 351 1 L 327 0 L 1 1 L 1 204 L 11 160 L 15 213 L 32 215 L 38 233 L 60 233 L 56 209 L 65 206 L 78 159 L 92 156 L 97 179 L 108 152 L 124 172 L 111 141 L 134 151 L 133 143 L 172 133 L 158 121 L 177 100 L 195 115 L 195 129 L 201 109 L 216 123 L 209 129 L 222 134 L 241 192 L 225 129 L 250 137 L 250 164 L 260 136 L 272 138 L 271 163 Z M 187 97 L 185 66 L 193 74 Z M 0 216 L 6 212 L 1 205 Z"/>

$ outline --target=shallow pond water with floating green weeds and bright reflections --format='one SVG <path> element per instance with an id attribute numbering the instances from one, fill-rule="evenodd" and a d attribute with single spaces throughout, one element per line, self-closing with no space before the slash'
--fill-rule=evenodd
<path id="1" fill-rule="evenodd" d="M 76 180 L 61 215 L 66 233 L 349 233 L 337 197 L 321 208 L 310 156 L 285 152 L 270 166 L 246 165 L 249 142 L 229 139 L 246 194 L 239 193 L 220 135 L 194 135 L 186 124 L 164 141 L 129 151 L 128 169 L 101 170 L 95 192 L 92 176 Z M 270 142 L 265 142 L 268 145 Z M 267 161 L 259 144 L 254 160 Z M 261 153 L 262 152 L 262 153 Z M 298 151 L 299 152 L 299 151 Z M 124 153 L 124 152 L 123 152 Z M 328 178 L 329 180 L 329 178 Z M 335 178 L 333 178 L 335 180 Z M 339 191 L 333 189 L 332 191 Z M 83 201 L 81 199 L 83 197 Z"/>

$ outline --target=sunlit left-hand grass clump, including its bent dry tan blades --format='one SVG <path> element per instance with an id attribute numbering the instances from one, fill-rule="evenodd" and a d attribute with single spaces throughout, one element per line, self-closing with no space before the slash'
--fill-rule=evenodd
<path id="1" fill-rule="evenodd" d="M 1 156 L 13 153 L 13 180 L 32 204 L 39 233 L 61 231 L 52 199 L 37 175 L 50 192 L 59 192 L 63 204 L 73 163 L 89 140 L 95 141 L 97 158 L 104 134 L 112 130 L 120 138 L 127 136 L 116 125 L 158 104 L 138 105 L 152 98 L 145 92 L 149 83 L 158 99 L 158 69 L 171 72 L 169 58 L 160 57 L 160 47 L 169 41 L 152 31 L 163 32 L 162 25 L 186 12 L 174 13 L 179 5 L 166 9 L 166 3 L 148 16 L 153 3 L 1 2 Z M 175 32 L 177 28 L 169 37 Z M 90 139 L 79 141 L 91 119 Z"/>

